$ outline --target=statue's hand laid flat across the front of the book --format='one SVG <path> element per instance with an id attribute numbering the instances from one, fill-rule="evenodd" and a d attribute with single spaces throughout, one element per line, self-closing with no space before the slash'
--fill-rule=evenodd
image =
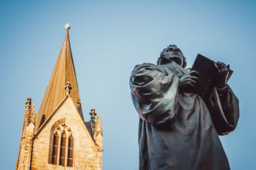
<path id="1" fill-rule="evenodd" d="M 179 79 L 178 87 L 181 91 L 191 92 L 198 84 L 198 81 L 198 72 L 193 70 Z"/>

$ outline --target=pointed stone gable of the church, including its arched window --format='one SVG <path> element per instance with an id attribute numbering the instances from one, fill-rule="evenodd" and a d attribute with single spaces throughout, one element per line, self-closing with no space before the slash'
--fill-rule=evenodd
<path id="1" fill-rule="evenodd" d="M 71 97 L 67 96 L 35 137 L 32 170 L 102 169 L 102 148 L 98 149 Z"/>

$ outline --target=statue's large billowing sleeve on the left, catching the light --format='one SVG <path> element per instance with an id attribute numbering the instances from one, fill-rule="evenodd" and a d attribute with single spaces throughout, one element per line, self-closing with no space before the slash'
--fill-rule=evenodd
<path id="1" fill-rule="evenodd" d="M 178 77 L 153 64 L 136 66 L 130 77 L 132 101 L 139 117 L 171 127 L 178 110 Z"/>

